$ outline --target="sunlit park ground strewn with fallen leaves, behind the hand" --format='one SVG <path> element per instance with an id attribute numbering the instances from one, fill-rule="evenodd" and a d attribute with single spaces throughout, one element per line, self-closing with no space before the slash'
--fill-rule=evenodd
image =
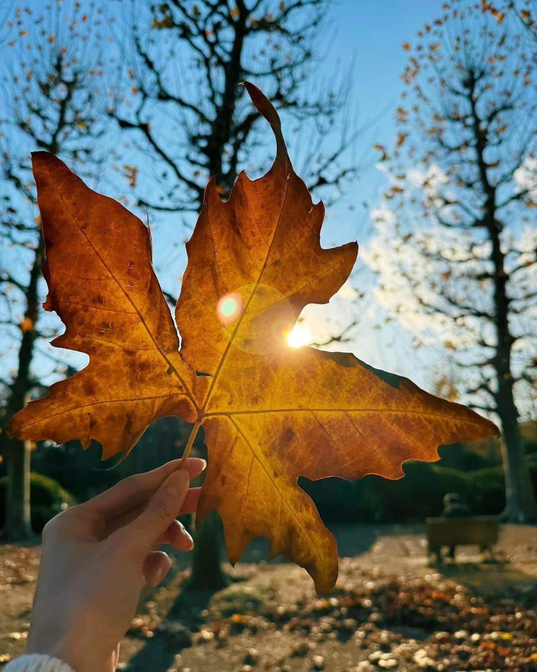
<path id="1" fill-rule="evenodd" d="M 182 591 L 185 556 L 147 591 L 121 645 L 129 672 L 537 669 L 537 528 L 504 526 L 497 564 L 464 549 L 426 566 L 422 526 L 339 526 L 336 589 L 258 562 L 254 544 L 216 595 Z M 0 661 L 23 650 L 39 548 L 0 547 Z"/>

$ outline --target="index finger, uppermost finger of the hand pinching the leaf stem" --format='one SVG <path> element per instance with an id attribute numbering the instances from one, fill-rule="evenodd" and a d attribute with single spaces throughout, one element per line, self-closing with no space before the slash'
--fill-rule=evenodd
<path id="1" fill-rule="evenodd" d="M 206 466 L 201 458 L 188 458 L 183 467 L 189 472 L 190 480 L 199 476 Z M 136 474 L 119 481 L 109 490 L 93 497 L 82 505 L 87 511 L 105 516 L 119 516 L 133 507 L 145 503 L 160 488 L 170 474 L 181 468 L 181 460 L 166 462 L 152 471 Z"/>

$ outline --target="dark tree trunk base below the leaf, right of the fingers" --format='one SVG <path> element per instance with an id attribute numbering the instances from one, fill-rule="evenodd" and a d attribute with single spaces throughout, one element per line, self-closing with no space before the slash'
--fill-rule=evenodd
<path id="1" fill-rule="evenodd" d="M 219 515 L 209 511 L 194 534 L 189 589 L 213 593 L 229 585 L 230 579 L 222 571 L 223 536 Z"/>

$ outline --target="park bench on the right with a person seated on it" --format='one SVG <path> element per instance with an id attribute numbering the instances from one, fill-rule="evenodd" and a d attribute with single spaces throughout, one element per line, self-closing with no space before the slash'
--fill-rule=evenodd
<path id="1" fill-rule="evenodd" d="M 492 558 L 498 540 L 498 519 L 488 515 L 426 518 L 428 554 L 442 562 L 442 546 L 477 545 Z"/>

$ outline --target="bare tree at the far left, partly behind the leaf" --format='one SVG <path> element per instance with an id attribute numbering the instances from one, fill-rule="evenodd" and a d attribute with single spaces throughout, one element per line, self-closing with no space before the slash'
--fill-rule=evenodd
<path id="1" fill-rule="evenodd" d="M 44 242 L 30 152 L 68 158 L 87 176 L 99 170 L 95 146 L 107 121 L 98 103 L 106 86 L 99 58 L 105 20 L 95 3 L 66 1 L 42 15 L 16 9 L 7 26 L 0 74 L 0 446 L 8 474 L 4 533 L 21 540 L 31 534 L 32 443 L 8 439 L 4 425 L 42 390 L 44 378 L 66 373 L 45 343 L 55 326 L 40 310 Z"/>

